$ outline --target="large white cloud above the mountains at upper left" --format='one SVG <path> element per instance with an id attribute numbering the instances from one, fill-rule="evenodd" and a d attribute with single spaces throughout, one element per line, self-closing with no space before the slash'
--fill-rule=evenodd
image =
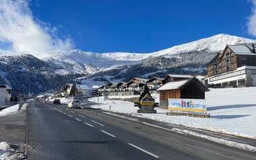
<path id="1" fill-rule="evenodd" d="M 2 51 L 40 55 L 71 49 L 71 38 L 59 38 L 58 28 L 35 19 L 29 5 L 28 0 L 0 0 L 0 43 L 11 44 L 11 50 Z"/>

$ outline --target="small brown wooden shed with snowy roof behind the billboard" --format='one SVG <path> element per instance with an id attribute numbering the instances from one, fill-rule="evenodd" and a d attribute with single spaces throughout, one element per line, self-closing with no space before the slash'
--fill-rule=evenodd
<path id="1" fill-rule="evenodd" d="M 160 91 L 160 108 L 168 108 L 168 98 L 205 99 L 205 91 L 210 91 L 197 78 L 166 83 Z"/>

